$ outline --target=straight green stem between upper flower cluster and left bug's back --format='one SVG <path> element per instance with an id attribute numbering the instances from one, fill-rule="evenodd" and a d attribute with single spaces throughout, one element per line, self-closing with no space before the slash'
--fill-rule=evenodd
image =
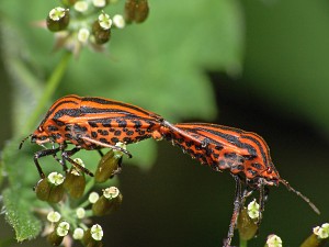
<path id="1" fill-rule="evenodd" d="M 57 89 L 64 72 L 66 71 L 68 67 L 69 58 L 71 57 L 71 53 L 67 52 L 63 55 L 60 61 L 58 63 L 57 67 L 54 69 L 53 74 L 46 81 L 46 88 L 43 92 L 41 99 L 38 100 L 38 103 L 32 113 L 31 117 L 29 119 L 26 123 L 26 130 L 24 130 L 24 133 L 30 132 L 36 124 L 36 121 L 38 120 L 39 115 L 45 109 L 45 105 L 47 105 L 48 100 L 54 94 L 55 90 Z"/>

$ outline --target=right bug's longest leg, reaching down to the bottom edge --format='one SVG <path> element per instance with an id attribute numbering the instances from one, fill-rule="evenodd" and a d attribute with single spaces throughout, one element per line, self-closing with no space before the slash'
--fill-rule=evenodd
<path id="1" fill-rule="evenodd" d="M 224 247 L 229 247 L 231 238 L 234 237 L 234 232 L 237 223 L 237 218 L 239 216 L 241 210 L 241 200 L 242 200 L 242 190 L 241 190 L 241 180 L 238 176 L 232 176 L 236 180 L 236 192 L 235 192 L 235 201 L 234 201 L 234 212 L 230 218 L 230 224 L 228 227 L 227 238 L 224 240 Z"/>

